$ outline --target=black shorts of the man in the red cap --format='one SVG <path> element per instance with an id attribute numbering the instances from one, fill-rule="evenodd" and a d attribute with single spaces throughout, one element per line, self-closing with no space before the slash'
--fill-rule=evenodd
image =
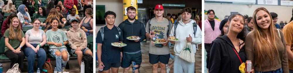
<path id="1" fill-rule="evenodd" d="M 170 58 L 170 54 L 166 54 L 166 55 L 155 55 L 155 54 L 149 53 L 149 62 L 151 64 L 156 64 L 159 61 L 161 63 L 163 63 L 163 64 L 168 64 L 169 58 Z"/>

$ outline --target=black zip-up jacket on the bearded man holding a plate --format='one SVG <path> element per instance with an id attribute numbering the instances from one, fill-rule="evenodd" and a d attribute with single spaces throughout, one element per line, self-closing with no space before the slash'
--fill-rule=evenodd
<path id="1" fill-rule="evenodd" d="M 135 20 L 133 24 L 131 24 L 127 19 L 121 22 L 118 26 L 123 32 L 123 43 L 127 44 L 122 48 L 123 52 L 137 52 L 141 50 L 140 42 L 146 39 L 146 30 L 142 22 Z M 126 39 L 128 36 L 139 36 L 138 42 L 134 40 Z"/>

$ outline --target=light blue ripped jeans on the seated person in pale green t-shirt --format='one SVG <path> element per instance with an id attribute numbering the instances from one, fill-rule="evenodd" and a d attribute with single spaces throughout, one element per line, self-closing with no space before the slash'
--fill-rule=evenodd
<path id="1" fill-rule="evenodd" d="M 52 48 L 52 49 L 50 49 L 49 51 L 50 51 L 50 53 L 51 53 L 52 55 L 54 55 L 55 58 L 56 58 L 56 68 L 57 68 L 57 72 L 62 72 L 61 67 L 62 67 L 62 69 L 65 69 L 65 66 L 66 66 L 66 64 L 67 64 L 67 62 L 68 62 L 68 60 L 69 60 L 69 57 L 70 57 L 70 55 L 69 55 L 69 53 L 68 53 L 68 51 L 67 51 L 67 48 L 59 48 L 59 49 L 57 49 L 57 48 Z M 56 51 L 60 51 L 60 53 L 62 53 L 62 51 L 66 51 L 66 52 L 67 52 L 67 55 L 68 55 L 68 60 L 67 60 L 67 61 L 64 61 L 64 60 L 62 59 L 62 54 L 61 54 L 60 56 L 57 56 L 57 55 L 55 54 Z"/>

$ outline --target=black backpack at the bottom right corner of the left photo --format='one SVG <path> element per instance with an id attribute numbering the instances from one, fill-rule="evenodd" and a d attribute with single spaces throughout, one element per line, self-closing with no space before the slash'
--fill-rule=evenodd
<path id="1" fill-rule="evenodd" d="M 84 61 L 84 73 L 93 73 L 93 57 L 89 54 L 84 54 L 82 56 L 82 60 Z"/>

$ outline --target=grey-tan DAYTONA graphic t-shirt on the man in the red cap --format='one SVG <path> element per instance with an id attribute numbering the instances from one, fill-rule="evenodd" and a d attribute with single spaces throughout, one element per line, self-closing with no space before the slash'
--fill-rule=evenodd
<path id="1" fill-rule="evenodd" d="M 167 31 L 168 31 L 168 25 L 169 25 L 169 20 L 164 18 L 163 21 L 158 22 L 156 18 L 152 18 L 151 21 L 151 26 L 150 30 L 152 32 L 155 32 L 155 38 L 159 39 L 167 39 Z M 171 23 L 170 30 L 168 33 L 170 33 L 171 29 L 173 27 L 173 24 Z M 146 32 L 149 33 L 149 22 L 147 22 L 146 25 Z M 152 39 L 151 39 L 152 40 Z M 168 43 L 168 42 L 167 42 Z M 149 53 L 155 54 L 155 55 L 166 55 L 170 53 L 169 45 L 167 44 L 166 46 L 163 46 L 162 44 L 151 44 L 149 45 Z"/>

